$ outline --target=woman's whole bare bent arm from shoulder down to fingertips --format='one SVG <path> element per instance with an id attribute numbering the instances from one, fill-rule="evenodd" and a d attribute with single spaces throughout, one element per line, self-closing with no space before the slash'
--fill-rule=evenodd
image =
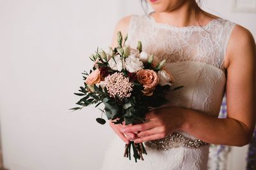
<path id="1" fill-rule="evenodd" d="M 159 108 L 148 113 L 150 122 L 125 127 L 136 132 L 137 143 L 161 139 L 182 130 L 207 143 L 243 146 L 250 142 L 255 127 L 255 42 L 252 34 L 237 25 L 228 42 L 227 118 L 214 118 L 185 108 Z"/>

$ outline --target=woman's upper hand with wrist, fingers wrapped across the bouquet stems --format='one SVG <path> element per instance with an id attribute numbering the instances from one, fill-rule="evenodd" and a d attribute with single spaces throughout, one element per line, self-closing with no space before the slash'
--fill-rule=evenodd
<path id="1" fill-rule="evenodd" d="M 161 139 L 174 131 L 182 129 L 185 124 L 185 111 L 179 107 L 165 107 L 152 110 L 147 113 L 143 124 L 122 127 L 121 132 L 138 134 L 135 143 Z"/>

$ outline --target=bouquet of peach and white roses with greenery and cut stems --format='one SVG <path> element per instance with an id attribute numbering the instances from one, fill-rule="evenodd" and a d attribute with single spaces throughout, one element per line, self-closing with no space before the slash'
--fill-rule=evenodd
<path id="1" fill-rule="evenodd" d="M 142 52 L 141 41 L 137 49 L 125 45 L 121 32 L 118 32 L 118 46 L 109 47 L 109 52 L 98 50 L 90 56 L 94 62 L 90 73 L 84 71 L 84 87 L 79 93 L 82 98 L 76 103 L 79 107 L 70 110 L 81 110 L 84 106 L 104 104 L 102 113 L 114 124 L 141 124 L 150 108 L 157 108 L 168 103 L 164 98 L 171 90 L 173 76 L 163 69 L 165 60 L 156 62 L 154 55 Z M 176 87 L 172 90 L 180 89 Z M 106 120 L 96 119 L 99 124 Z M 131 160 L 131 148 L 135 162 L 143 160 L 142 154 L 147 154 L 143 143 L 130 141 L 125 145 L 124 157 Z"/>

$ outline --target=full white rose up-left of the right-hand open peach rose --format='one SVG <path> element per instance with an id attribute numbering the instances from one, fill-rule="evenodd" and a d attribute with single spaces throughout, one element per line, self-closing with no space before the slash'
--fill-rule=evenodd
<path id="1" fill-rule="evenodd" d="M 135 57 L 135 55 L 129 55 L 125 59 L 125 65 L 127 71 L 129 71 L 130 73 L 134 73 L 136 71 L 143 69 L 143 62 L 141 62 L 140 59 Z"/>

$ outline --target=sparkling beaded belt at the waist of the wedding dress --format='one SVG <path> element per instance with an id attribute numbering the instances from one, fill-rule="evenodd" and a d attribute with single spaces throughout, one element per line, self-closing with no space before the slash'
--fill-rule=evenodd
<path id="1" fill-rule="evenodd" d="M 157 150 L 170 150 L 172 148 L 177 148 L 184 146 L 186 148 L 199 148 L 200 146 L 209 145 L 200 139 L 189 139 L 182 134 L 173 132 L 163 139 L 157 139 L 154 141 L 147 141 L 145 145 L 150 148 L 156 148 Z"/>

